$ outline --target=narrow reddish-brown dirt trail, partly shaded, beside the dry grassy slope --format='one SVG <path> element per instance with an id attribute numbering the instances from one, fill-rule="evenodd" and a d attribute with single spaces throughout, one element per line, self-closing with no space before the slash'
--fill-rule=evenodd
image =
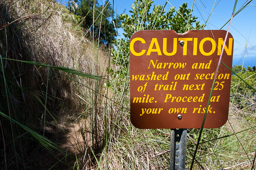
<path id="1" fill-rule="evenodd" d="M 84 154 L 88 154 L 89 148 L 87 147 L 91 146 L 91 143 L 85 143 L 85 141 L 90 141 L 89 133 L 84 131 L 85 124 L 84 120 L 80 120 L 79 123 L 73 123 L 69 127 L 62 126 L 62 133 L 57 135 L 57 143 L 64 153 L 58 152 L 55 155 L 61 161 L 58 162 L 52 155 L 45 153 L 40 161 L 41 166 L 47 167 L 47 169 L 53 166 L 51 170 L 63 170 L 73 168 L 77 160 L 78 162 L 86 161 L 83 159 Z M 56 164 L 56 162 L 58 163 Z"/>

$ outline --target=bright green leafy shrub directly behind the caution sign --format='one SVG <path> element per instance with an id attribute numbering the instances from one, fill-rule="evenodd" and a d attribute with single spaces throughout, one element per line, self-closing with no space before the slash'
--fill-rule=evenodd
<path id="1" fill-rule="evenodd" d="M 162 30 L 173 29 L 177 33 L 184 33 L 191 29 L 202 29 L 203 25 L 199 25 L 196 17 L 193 16 L 192 10 L 187 9 L 187 3 L 180 5 L 180 9 L 176 11 L 173 7 L 165 13 L 165 9 L 161 5 L 154 5 L 150 12 L 153 0 L 135 0 L 132 4 L 132 10 L 129 11 L 131 17 L 122 13 L 118 21 L 120 27 L 124 29 L 125 39 L 116 39 L 116 48 L 112 49 L 112 63 L 118 66 L 118 70 L 108 70 L 113 77 L 126 79 L 129 75 L 129 40 L 133 33 L 139 30 Z M 195 23 L 195 25 L 192 25 Z M 120 82 L 122 86 L 123 82 Z"/>

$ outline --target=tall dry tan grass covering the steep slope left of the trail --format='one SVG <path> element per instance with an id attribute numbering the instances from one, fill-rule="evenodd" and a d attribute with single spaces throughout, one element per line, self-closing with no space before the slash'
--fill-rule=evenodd
<path id="1" fill-rule="evenodd" d="M 88 75 L 98 74 L 95 73 L 99 67 L 97 55 L 100 60 L 106 59 L 105 51 L 98 50 L 84 38 L 74 16 L 54 1 L 1 0 L 0 14 L 0 55 L 3 58 L 67 67 Z M 76 113 L 84 116 L 90 110 L 87 103 L 91 103 L 95 88 L 93 79 L 53 69 L 48 74 L 47 67 L 14 60 L 4 60 L 3 65 L 8 89 L 1 74 L 0 90 L 7 91 L 8 96 L 1 94 L 0 111 L 10 113 L 11 118 L 39 134 L 58 141 L 58 134 L 68 131 L 67 126 L 76 120 Z M 4 107 L 8 105 L 9 109 Z M 1 161 L 1 166 L 30 169 L 30 165 L 41 165 L 39 161 L 46 153 L 40 151 L 42 147 L 37 147 L 26 131 L 16 126 L 12 128 L 10 120 L 3 118 L 1 126 L 4 137 L 0 138 L 7 148 L 1 149 L 1 155 L 5 154 L 7 159 L 7 162 Z M 81 145 L 79 141 L 76 144 Z M 34 154 L 28 155 L 31 152 L 41 154 L 35 159 Z"/>

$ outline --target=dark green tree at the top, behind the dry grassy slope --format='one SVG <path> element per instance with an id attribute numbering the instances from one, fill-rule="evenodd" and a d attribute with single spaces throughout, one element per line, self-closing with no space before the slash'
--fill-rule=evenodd
<path id="1" fill-rule="evenodd" d="M 94 36 L 94 40 L 101 44 L 109 46 L 111 41 L 115 39 L 116 30 L 112 26 L 113 9 L 110 3 L 99 5 L 98 0 L 75 0 L 74 3 L 68 3 L 69 10 L 74 13 L 81 26 L 90 36 Z M 89 34 L 88 34 L 89 35 Z"/>

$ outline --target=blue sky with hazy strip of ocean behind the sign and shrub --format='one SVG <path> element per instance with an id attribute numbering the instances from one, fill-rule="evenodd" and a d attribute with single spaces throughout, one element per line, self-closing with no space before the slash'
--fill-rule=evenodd
<path id="1" fill-rule="evenodd" d="M 105 0 L 105 2 L 108 0 Z M 62 3 L 67 0 L 62 1 Z M 98 0 L 99 4 L 103 0 Z M 179 8 L 184 2 L 188 3 L 188 8 L 192 8 L 193 0 L 169 0 L 165 9 L 168 11 L 170 7 Z M 238 0 L 236 12 L 242 7 L 243 4 L 248 3 L 246 0 Z M 129 11 L 134 3 L 133 0 L 110 0 L 110 4 L 114 4 L 116 15 L 120 15 L 125 10 L 125 13 L 131 16 Z M 154 4 L 165 5 L 166 0 L 154 0 Z M 210 18 L 207 27 L 204 29 L 220 29 L 232 15 L 235 0 L 195 0 L 192 14 L 198 17 L 197 21 L 204 24 L 206 19 Z M 252 0 L 248 7 L 238 13 L 231 22 L 229 32 L 234 38 L 234 52 L 233 52 L 233 65 L 242 65 L 244 59 L 244 66 L 256 66 L 256 0 Z M 229 23 L 223 27 L 227 30 Z M 247 44 L 247 46 L 246 46 Z M 246 51 L 245 51 L 246 48 Z"/>

